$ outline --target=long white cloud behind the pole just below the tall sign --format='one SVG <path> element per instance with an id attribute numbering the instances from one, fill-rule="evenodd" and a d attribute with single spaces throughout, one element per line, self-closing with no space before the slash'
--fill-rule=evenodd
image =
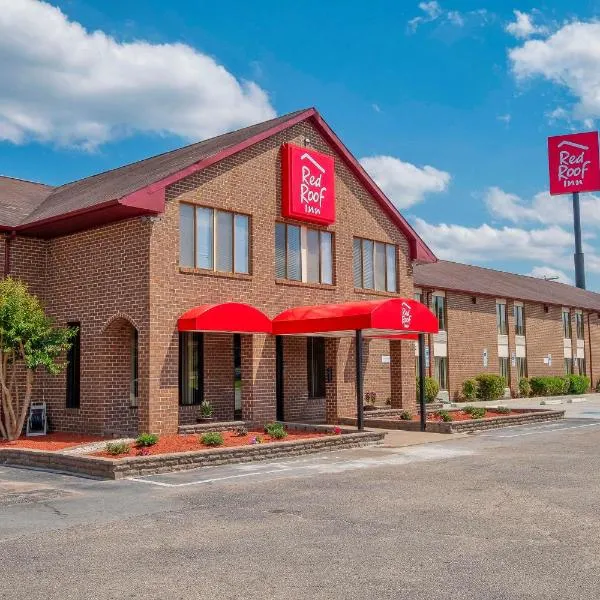
<path id="1" fill-rule="evenodd" d="M 491 187 L 485 191 L 483 199 L 490 214 L 511 223 L 542 223 L 567 227 L 573 223 L 570 196 L 550 196 L 548 192 L 539 192 L 531 202 L 525 202 L 516 194 Z M 600 228 L 600 197 L 585 194 L 580 202 L 584 228 Z"/>

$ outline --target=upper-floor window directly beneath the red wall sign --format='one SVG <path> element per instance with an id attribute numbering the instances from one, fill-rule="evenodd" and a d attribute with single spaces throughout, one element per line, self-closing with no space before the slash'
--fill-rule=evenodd
<path id="1" fill-rule="evenodd" d="M 331 232 L 276 223 L 275 277 L 305 283 L 332 284 Z"/>

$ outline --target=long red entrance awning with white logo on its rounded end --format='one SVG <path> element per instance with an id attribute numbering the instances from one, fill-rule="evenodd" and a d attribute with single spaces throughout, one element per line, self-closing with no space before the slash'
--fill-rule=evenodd
<path id="1" fill-rule="evenodd" d="M 273 319 L 276 335 L 350 334 L 357 329 L 367 336 L 437 333 L 438 322 L 424 304 L 412 298 L 297 306 Z"/>

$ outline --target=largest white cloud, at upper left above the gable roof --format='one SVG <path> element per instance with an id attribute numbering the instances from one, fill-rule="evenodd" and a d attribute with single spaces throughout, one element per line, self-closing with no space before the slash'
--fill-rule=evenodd
<path id="1" fill-rule="evenodd" d="M 94 148 L 201 139 L 275 116 L 267 94 L 184 44 L 119 42 L 37 0 L 0 0 L 0 140 Z"/>

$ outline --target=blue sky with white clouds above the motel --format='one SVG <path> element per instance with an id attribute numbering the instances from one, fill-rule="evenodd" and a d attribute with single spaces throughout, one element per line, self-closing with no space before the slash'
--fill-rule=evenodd
<path id="1" fill-rule="evenodd" d="M 316 106 L 438 256 L 574 279 L 546 137 L 600 118 L 596 2 L 171 5 L 0 0 L 0 173 L 58 184 Z M 583 221 L 600 290 L 600 198 Z"/>

